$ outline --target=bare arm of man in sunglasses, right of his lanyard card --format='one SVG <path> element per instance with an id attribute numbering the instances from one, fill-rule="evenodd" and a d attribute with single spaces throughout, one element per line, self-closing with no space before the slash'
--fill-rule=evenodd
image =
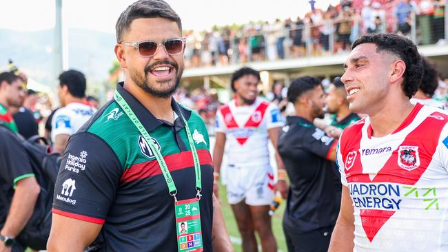
<path id="1" fill-rule="evenodd" d="M 229 233 L 225 228 L 221 206 L 213 196 L 213 227 L 212 227 L 213 250 L 216 252 L 234 251 L 232 242 L 230 242 Z"/>

